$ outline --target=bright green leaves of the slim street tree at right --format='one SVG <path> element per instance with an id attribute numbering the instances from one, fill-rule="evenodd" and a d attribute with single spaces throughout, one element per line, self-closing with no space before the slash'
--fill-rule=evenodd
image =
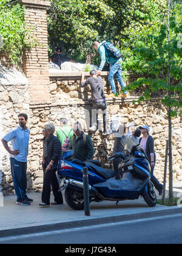
<path id="1" fill-rule="evenodd" d="M 142 88 L 143 93 L 138 99 L 147 101 L 153 93 L 161 98 L 161 103 L 166 107 L 170 117 L 176 117 L 182 114 L 182 48 L 178 47 L 178 32 L 181 31 L 181 20 L 178 14 L 182 12 L 181 5 L 174 7 L 168 17 L 161 16 L 156 30 L 153 34 L 147 35 L 143 43 L 136 43 L 133 51 L 133 63 L 136 58 L 140 60 L 140 65 L 134 66 L 140 68 L 140 71 L 151 76 L 151 78 L 139 78 L 127 86 L 127 90 L 136 90 Z M 174 15 L 175 13 L 175 15 Z M 166 21 L 169 19 L 169 23 Z"/>

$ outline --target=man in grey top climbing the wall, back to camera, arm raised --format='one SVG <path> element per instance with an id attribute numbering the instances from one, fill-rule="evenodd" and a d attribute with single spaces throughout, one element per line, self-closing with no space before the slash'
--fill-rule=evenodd
<path id="1" fill-rule="evenodd" d="M 101 76 L 97 76 L 96 70 L 93 69 L 90 71 L 90 77 L 87 80 L 84 80 L 85 73 L 81 73 L 81 87 L 85 87 L 86 85 L 90 85 L 92 91 L 92 101 L 93 101 L 93 108 L 98 110 L 103 110 L 103 126 L 104 126 L 104 133 L 103 135 L 109 134 L 107 132 L 107 103 L 106 97 L 104 94 L 104 87 L 103 87 L 103 79 Z M 93 126 L 89 128 L 89 130 L 95 132 L 98 129 L 98 112 L 96 112 L 96 123 L 93 121 Z"/>

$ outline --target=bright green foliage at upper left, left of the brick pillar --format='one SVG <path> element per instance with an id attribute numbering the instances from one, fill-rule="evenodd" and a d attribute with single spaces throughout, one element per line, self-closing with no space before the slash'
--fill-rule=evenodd
<path id="1" fill-rule="evenodd" d="M 13 63 L 21 61 L 24 49 L 35 44 L 33 34 L 26 29 L 24 7 L 11 5 L 9 0 L 0 0 L 1 49 Z"/>

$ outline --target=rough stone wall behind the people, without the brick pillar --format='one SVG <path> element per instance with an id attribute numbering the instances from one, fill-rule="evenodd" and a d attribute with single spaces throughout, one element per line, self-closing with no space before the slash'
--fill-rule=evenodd
<path id="1" fill-rule="evenodd" d="M 104 77 L 104 90 L 108 91 L 106 74 Z M 33 103 L 30 102 L 28 85 L 19 86 L 0 86 L 0 126 L 2 127 L 1 136 L 10 129 L 17 126 L 17 116 L 20 112 L 29 115 L 29 127 L 31 130 L 28 158 L 28 188 L 29 190 L 41 191 L 43 182 L 42 160 L 42 128 L 48 122 L 55 124 L 59 129 L 59 119 L 66 117 L 69 124 L 78 120 L 83 124 L 83 129 L 88 133 L 89 112 L 92 103 L 87 101 L 91 96 L 90 88 L 84 91 L 79 89 L 80 76 L 54 76 L 50 75 L 50 98 L 52 102 Z M 43 93 L 43 92 L 42 92 Z M 133 105 L 133 99 L 137 99 L 136 93 L 126 99 L 114 98 L 107 99 L 107 119 L 108 125 L 113 116 L 120 118 L 122 123 L 134 122 L 136 126 L 148 125 L 151 128 L 150 134 L 155 138 L 155 151 L 157 153 L 157 165 L 155 174 L 163 181 L 164 154 L 167 138 L 167 119 L 166 112 L 160 105 L 158 98 L 152 98 L 147 104 Z M 139 93 L 140 94 L 140 93 Z M 101 129 L 103 128 L 102 116 L 99 115 Z M 180 118 L 173 120 L 173 154 L 174 154 L 174 179 L 182 180 L 182 126 Z M 108 167 L 106 157 L 112 154 L 113 137 L 112 135 L 103 136 L 101 131 L 89 133 L 92 137 L 95 158 L 103 162 L 103 166 Z M 2 137 L 1 137 L 2 138 Z M 12 177 L 10 174 L 9 155 L 2 147 L 0 161 L 3 171 L 2 187 L 4 194 L 13 192 Z M 0 168 L 0 169 L 1 169 Z"/>

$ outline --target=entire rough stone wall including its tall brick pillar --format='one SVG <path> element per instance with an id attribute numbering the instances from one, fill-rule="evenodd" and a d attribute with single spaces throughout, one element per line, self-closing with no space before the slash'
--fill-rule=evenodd
<path id="1" fill-rule="evenodd" d="M 25 21 L 27 27 L 35 27 L 35 37 L 42 47 L 35 47 L 25 51 L 22 57 L 22 66 L 28 81 L 16 82 L 4 81 L 4 74 L 0 73 L 0 135 L 1 138 L 18 125 L 18 114 L 25 112 L 29 115 L 28 126 L 31 130 L 29 157 L 28 157 L 28 189 L 41 191 L 43 182 L 42 160 L 42 128 L 48 122 L 55 124 L 59 129 L 59 119 L 66 117 L 69 124 L 80 121 L 83 129 L 88 132 L 90 126 L 89 112 L 92 103 L 88 101 L 91 96 L 90 87 L 80 89 L 80 73 L 50 73 L 48 70 L 47 54 L 47 17 L 46 12 L 50 7 L 49 1 L 42 0 L 18 0 L 25 6 Z M 10 62 L 4 53 L 0 52 L 0 64 L 10 66 Z M 7 71 L 9 72 L 9 71 Z M 88 77 L 89 74 L 86 74 Z M 110 87 L 107 73 L 102 73 L 104 91 L 109 93 Z M 127 83 L 135 80 L 130 76 Z M 24 80 L 24 79 L 23 79 Z M 118 92 L 120 87 L 117 86 Z M 140 91 L 133 91 L 126 99 L 107 99 L 108 125 L 113 116 L 120 118 L 121 122 L 134 122 L 136 126 L 148 125 L 150 134 L 155 138 L 155 151 L 157 153 L 157 165 L 155 174 L 163 180 L 164 154 L 167 139 L 166 112 L 161 107 L 160 100 L 153 98 L 146 104 L 135 104 Z M 99 116 L 102 129 L 102 118 Z M 103 166 L 109 166 L 106 157 L 112 154 L 112 135 L 103 136 L 102 132 L 89 133 L 95 148 L 95 158 L 103 162 Z M 173 120 L 173 166 L 174 179 L 182 180 L 182 126 L 180 118 Z M 0 138 L 0 140 L 1 140 Z M 0 144 L 0 172 L 2 169 L 2 187 L 4 194 L 13 193 L 13 182 L 10 171 L 9 155 Z"/>

